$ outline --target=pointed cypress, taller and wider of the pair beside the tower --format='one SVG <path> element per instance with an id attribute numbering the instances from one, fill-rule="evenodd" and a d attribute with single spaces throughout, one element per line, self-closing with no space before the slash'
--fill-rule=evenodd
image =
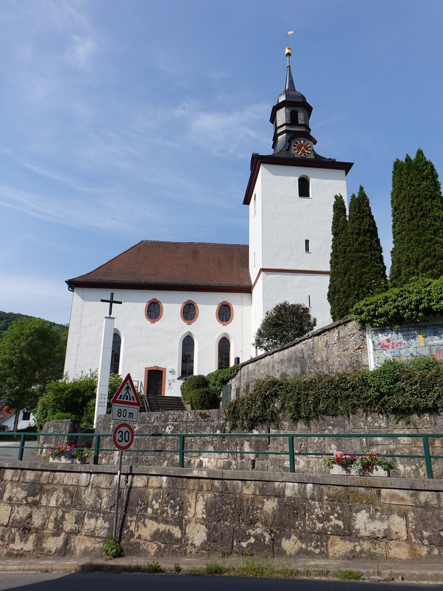
<path id="1" fill-rule="evenodd" d="M 357 301 L 387 287 L 377 225 L 372 215 L 367 194 L 360 185 L 357 197 L 349 202 L 348 217 L 348 312 Z"/>

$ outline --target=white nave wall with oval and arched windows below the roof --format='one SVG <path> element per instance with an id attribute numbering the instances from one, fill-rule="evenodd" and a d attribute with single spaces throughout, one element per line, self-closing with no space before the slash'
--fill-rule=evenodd
<path id="1" fill-rule="evenodd" d="M 103 317 L 109 287 L 79 288 L 73 297 L 65 371 L 70 378 L 93 371 L 99 365 Z M 211 293 L 204 291 L 121 290 L 113 288 L 114 298 L 123 302 L 114 306 L 115 330 L 122 338 L 120 374 L 131 373 L 143 381 L 145 368 L 165 368 L 166 395 L 180 395 L 181 342 L 184 336 L 194 339 L 194 374 L 208 374 L 217 369 L 217 347 L 222 336 L 230 342 L 230 364 L 252 354 L 250 343 L 250 294 Z M 153 298 L 162 305 L 158 322 L 149 322 L 145 307 Z M 187 324 L 181 310 L 191 300 L 198 307 L 195 322 Z M 217 306 L 227 301 L 233 309 L 232 320 L 223 325 L 217 320 Z"/>

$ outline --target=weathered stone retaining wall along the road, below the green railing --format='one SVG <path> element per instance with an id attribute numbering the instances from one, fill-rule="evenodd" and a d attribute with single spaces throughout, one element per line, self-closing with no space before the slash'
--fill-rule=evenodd
<path id="1" fill-rule="evenodd" d="M 1 556 L 101 556 L 115 466 L 4 462 L 0 478 Z M 439 480 L 123 466 L 120 508 L 127 556 L 443 557 Z"/>

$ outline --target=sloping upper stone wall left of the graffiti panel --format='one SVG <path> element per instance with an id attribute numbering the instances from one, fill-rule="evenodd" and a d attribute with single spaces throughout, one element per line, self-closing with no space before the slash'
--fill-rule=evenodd
<path id="1" fill-rule="evenodd" d="M 242 369 L 230 382 L 231 400 L 247 394 L 254 382 L 267 375 L 287 378 L 356 369 L 369 369 L 366 329 L 349 316 L 242 363 Z"/>

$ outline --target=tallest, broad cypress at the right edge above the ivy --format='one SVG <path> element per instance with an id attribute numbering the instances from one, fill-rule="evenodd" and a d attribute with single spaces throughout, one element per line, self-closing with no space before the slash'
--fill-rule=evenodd
<path id="1" fill-rule="evenodd" d="M 443 275 L 443 198 L 434 164 L 421 149 L 392 171 L 392 266 L 390 283 Z"/>

